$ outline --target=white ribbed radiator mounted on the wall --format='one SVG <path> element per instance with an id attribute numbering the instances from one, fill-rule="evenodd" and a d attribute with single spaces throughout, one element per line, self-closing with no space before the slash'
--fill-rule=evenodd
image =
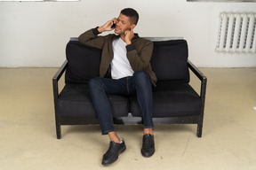
<path id="1" fill-rule="evenodd" d="M 256 13 L 220 13 L 220 52 L 256 52 Z"/>

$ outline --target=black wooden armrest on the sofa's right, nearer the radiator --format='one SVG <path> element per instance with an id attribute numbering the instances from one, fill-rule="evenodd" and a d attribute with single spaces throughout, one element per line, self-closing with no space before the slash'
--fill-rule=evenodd
<path id="1" fill-rule="evenodd" d="M 205 100 L 205 93 L 206 93 L 206 83 L 207 77 L 202 73 L 191 61 L 188 60 L 188 68 L 196 74 L 197 78 L 201 81 L 201 92 L 200 97 L 202 100 Z"/>

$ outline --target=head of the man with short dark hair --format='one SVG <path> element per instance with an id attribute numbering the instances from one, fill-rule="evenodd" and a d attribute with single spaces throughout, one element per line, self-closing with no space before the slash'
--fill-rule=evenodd
<path id="1" fill-rule="evenodd" d="M 131 30 L 136 27 L 139 20 L 139 14 L 132 8 L 125 8 L 120 12 L 116 19 L 116 34 L 124 34 L 126 30 Z"/>

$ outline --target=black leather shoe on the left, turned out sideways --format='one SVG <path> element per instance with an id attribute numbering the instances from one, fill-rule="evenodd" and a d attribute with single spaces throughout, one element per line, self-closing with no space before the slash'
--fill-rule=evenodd
<path id="1" fill-rule="evenodd" d="M 113 141 L 109 143 L 108 151 L 103 155 L 101 162 L 103 166 L 108 166 L 109 164 L 114 163 L 117 160 L 119 154 L 126 150 L 124 139 L 121 141 L 122 143 L 115 143 Z"/>

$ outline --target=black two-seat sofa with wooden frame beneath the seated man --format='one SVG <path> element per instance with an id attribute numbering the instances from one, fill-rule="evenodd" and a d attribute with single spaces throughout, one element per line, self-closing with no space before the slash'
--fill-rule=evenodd
<path id="1" fill-rule="evenodd" d="M 157 84 L 153 89 L 155 124 L 197 124 L 202 136 L 206 77 L 188 60 L 186 40 L 148 38 L 154 42 L 151 58 Z M 101 50 L 71 39 L 66 48 L 67 60 L 52 78 L 57 138 L 62 125 L 99 124 L 92 106 L 88 81 L 99 76 Z M 201 92 L 189 85 L 189 71 L 201 81 Z M 65 73 L 65 86 L 59 94 L 59 80 Z M 108 95 L 115 124 L 141 124 L 136 96 Z"/>

